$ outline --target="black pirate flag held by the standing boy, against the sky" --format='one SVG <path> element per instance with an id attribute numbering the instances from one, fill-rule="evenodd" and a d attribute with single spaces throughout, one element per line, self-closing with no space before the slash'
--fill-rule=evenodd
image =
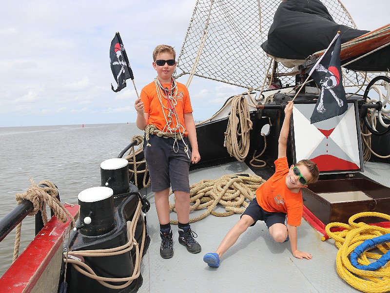
<path id="1" fill-rule="evenodd" d="M 126 87 L 126 80 L 131 78 L 134 80 L 133 71 L 131 70 L 129 60 L 127 59 L 127 54 L 122 43 L 122 39 L 119 36 L 119 33 L 115 34 L 114 39 L 111 42 L 110 46 L 110 65 L 111 71 L 113 72 L 114 78 L 117 81 L 118 87 L 114 89 L 114 86 L 111 84 L 113 91 L 118 92 L 122 88 Z"/>

